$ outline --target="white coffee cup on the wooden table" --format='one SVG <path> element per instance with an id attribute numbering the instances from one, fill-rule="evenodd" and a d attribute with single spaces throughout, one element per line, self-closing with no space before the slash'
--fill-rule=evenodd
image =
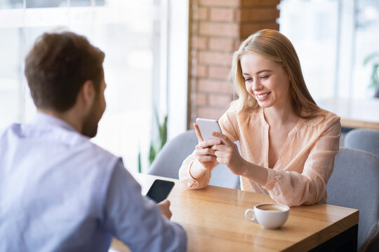
<path id="1" fill-rule="evenodd" d="M 245 217 L 248 221 L 259 223 L 263 228 L 280 228 L 288 218 L 289 207 L 284 204 L 263 203 L 254 206 L 254 209 L 246 209 Z M 248 213 L 253 212 L 253 218 L 248 217 Z"/>

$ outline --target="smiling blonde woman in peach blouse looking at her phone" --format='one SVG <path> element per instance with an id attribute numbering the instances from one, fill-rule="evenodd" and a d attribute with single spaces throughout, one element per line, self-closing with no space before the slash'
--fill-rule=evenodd
<path id="1" fill-rule="evenodd" d="M 203 141 L 194 124 L 199 144 L 180 167 L 182 184 L 204 188 L 222 163 L 240 175 L 241 190 L 288 206 L 326 203 L 340 118 L 312 99 L 291 41 L 270 29 L 252 34 L 234 52 L 232 76 L 239 99 L 220 118 L 218 139 Z"/>

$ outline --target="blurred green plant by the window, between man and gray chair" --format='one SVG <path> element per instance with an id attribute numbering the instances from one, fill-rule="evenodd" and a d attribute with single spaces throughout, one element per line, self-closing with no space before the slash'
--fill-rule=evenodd
<path id="1" fill-rule="evenodd" d="M 149 148 L 149 165 L 152 164 L 155 157 L 161 151 L 161 148 L 166 144 L 167 141 L 167 118 L 168 116 L 164 117 L 164 121 L 162 123 L 159 122 L 158 113 L 157 111 L 154 111 L 155 113 L 155 120 L 157 121 L 157 127 L 158 127 L 158 139 L 155 141 L 150 141 L 150 148 Z M 138 172 L 142 172 L 142 164 L 141 164 L 141 151 L 138 152 Z"/>

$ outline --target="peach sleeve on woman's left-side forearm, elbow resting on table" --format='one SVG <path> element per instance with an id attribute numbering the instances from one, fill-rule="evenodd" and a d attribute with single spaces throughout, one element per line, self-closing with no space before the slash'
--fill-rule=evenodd
<path id="1" fill-rule="evenodd" d="M 200 179 L 194 179 L 189 172 L 190 169 L 194 166 L 201 167 L 201 163 L 192 153 L 189 155 L 183 162 L 182 166 L 179 169 L 179 181 L 180 184 L 187 189 L 201 189 L 208 186 L 209 181 L 211 180 L 211 172 L 206 170 L 206 174 Z M 201 168 L 204 169 L 204 168 Z"/>

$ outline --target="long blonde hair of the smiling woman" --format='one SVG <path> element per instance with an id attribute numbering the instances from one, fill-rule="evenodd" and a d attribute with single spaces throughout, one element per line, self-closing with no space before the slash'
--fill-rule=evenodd
<path id="1" fill-rule="evenodd" d="M 246 90 L 241 69 L 241 56 L 252 52 L 271 59 L 284 68 L 290 80 L 288 91 L 295 115 L 300 118 L 312 118 L 315 113 L 320 111 L 305 85 L 300 61 L 291 41 L 279 31 L 272 29 L 262 29 L 251 34 L 241 43 L 239 50 L 234 52 L 231 77 L 239 99 L 232 102 L 233 107 L 238 111 L 258 108 L 258 102 Z"/>

